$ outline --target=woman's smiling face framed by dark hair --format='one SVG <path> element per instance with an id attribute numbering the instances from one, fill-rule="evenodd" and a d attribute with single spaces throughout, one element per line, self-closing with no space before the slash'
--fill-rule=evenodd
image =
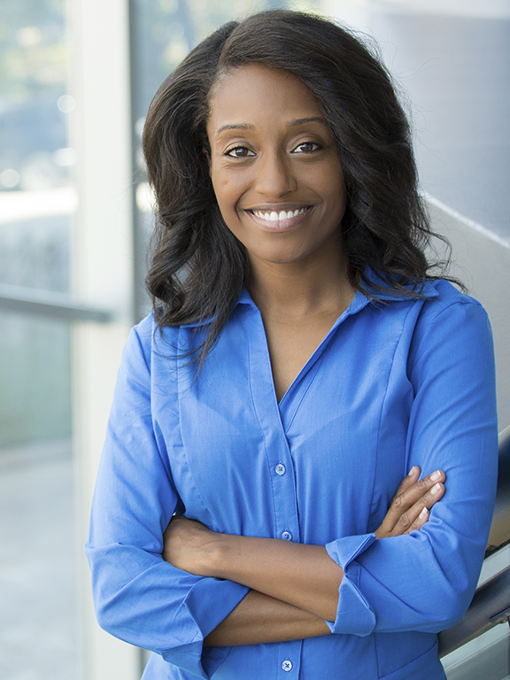
<path id="1" fill-rule="evenodd" d="M 223 219 L 253 265 L 340 247 L 344 174 L 313 93 L 293 73 L 251 64 L 213 91 L 210 174 Z"/>

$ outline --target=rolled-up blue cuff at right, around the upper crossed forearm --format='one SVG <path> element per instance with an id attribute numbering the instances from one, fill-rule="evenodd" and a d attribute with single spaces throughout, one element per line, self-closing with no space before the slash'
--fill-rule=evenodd
<path id="1" fill-rule="evenodd" d="M 328 555 L 344 570 L 338 591 L 335 622 L 329 622 L 332 633 L 347 633 L 361 637 L 370 635 L 375 628 L 375 614 L 360 590 L 361 568 L 354 561 L 360 553 L 375 542 L 375 534 L 338 538 L 326 545 Z"/>

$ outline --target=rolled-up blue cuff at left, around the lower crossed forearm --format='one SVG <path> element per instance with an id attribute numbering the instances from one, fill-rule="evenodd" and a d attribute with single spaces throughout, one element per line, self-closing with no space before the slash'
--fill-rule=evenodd
<path id="1" fill-rule="evenodd" d="M 208 676 L 202 667 L 204 638 L 227 618 L 249 590 L 239 583 L 217 578 L 198 581 L 182 603 L 189 612 L 190 626 L 196 630 L 195 637 L 187 645 L 158 650 L 163 659 L 206 680 Z"/>

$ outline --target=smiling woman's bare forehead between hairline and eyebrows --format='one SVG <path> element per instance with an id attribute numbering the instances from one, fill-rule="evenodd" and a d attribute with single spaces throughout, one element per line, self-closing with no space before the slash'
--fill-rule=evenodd
<path id="1" fill-rule="evenodd" d="M 221 76 L 210 101 L 208 130 L 276 124 L 322 116 L 312 90 L 289 71 L 250 64 Z"/>

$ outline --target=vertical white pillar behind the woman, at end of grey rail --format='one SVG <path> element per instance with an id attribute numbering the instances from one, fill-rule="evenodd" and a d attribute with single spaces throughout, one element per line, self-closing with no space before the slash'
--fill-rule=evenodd
<path id="1" fill-rule="evenodd" d="M 76 456 L 83 680 L 138 680 L 140 651 L 100 630 L 83 556 L 120 353 L 133 322 L 133 215 L 128 0 L 68 0 L 71 143 L 80 197 L 73 238 L 73 292 L 111 309 L 108 324 L 74 329 Z"/>

